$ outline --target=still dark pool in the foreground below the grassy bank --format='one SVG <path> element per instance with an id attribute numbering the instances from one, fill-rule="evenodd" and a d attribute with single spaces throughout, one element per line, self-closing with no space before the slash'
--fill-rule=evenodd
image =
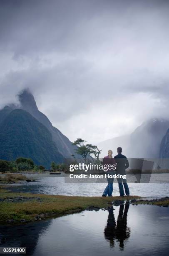
<path id="1" fill-rule="evenodd" d="M 124 203 L 114 209 L 2 226 L 0 246 L 27 247 L 29 256 L 169 255 L 169 208 Z"/>

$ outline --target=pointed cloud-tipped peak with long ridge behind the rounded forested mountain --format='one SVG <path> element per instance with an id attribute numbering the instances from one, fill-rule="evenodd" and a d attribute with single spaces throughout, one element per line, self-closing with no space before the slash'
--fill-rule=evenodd
<path id="1" fill-rule="evenodd" d="M 48 131 L 52 134 L 52 140 L 57 146 L 59 152 L 65 158 L 70 158 L 72 154 L 75 155 L 75 149 L 77 146 L 72 146 L 72 142 L 52 125 L 46 115 L 38 110 L 35 99 L 29 90 L 23 90 L 19 94 L 19 100 L 21 109 L 26 110 L 40 123 L 45 125 Z"/>

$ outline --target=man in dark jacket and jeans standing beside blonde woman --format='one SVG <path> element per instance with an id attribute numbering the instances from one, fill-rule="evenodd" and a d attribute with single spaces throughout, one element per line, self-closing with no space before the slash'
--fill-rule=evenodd
<path id="1" fill-rule="evenodd" d="M 116 174 L 119 175 L 126 175 L 126 169 L 129 167 L 129 161 L 127 160 L 127 157 L 122 155 L 122 148 L 118 147 L 117 148 L 117 156 L 114 156 L 114 159 L 117 163 L 116 166 Z M 125 189 L 125 193 L 127 196 L 129 196 L 130 192 L 129 192 L 129 187 L 127 185 L 127 179 L 122 179 L 119 178 L 117 179 L 117 182 L 119 184 L 119 192 L 120 192 L 120 196 L 124 196 L 124 189 Z M 123 185 L 124 185 L 124 189 L 123 189 Z"/>

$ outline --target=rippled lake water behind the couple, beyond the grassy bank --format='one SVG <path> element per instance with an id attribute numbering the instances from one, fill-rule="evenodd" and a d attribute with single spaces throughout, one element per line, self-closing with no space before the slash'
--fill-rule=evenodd
<path id="1" fill-rule="evenodd" d="M 35 178 L 40 182 L 31 182 L 26 184 L 12 185 L 9 187 L 14 192 L 32 192 L 49 195 L 77 195 L 77 196 L 101 196 L 106 183 L 65 183 L 65 177 L 58 175 L 27 175 L 28 178 Z M 169 196 L 169 174 L 161 174 L 157 183 L 159 174 L 154 174 L 150 183 L 129 183 L 130 195 L 139 195 L 145 197 L 165 197 Z M 129 181 L 129 179 L 127 178 Z M 118 184 L 113 184 L 113 195 L 119 195 Z M 155 183 L 153 183 L 155 182 Z M 165 183 L 166 182 L 166 183 Z"/>

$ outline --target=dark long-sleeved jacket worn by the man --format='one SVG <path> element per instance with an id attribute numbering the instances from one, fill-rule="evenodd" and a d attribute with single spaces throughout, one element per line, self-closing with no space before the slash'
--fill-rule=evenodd
<path id="1" fill-rule="evenodd" d="M 127 157 L 119 153 L 117 156 L 114 156 L 114 159 L 117 163 L 116 174 L 125 175 L 125 171 L 129 167 L 129 161 L 127 160 Z"/>

